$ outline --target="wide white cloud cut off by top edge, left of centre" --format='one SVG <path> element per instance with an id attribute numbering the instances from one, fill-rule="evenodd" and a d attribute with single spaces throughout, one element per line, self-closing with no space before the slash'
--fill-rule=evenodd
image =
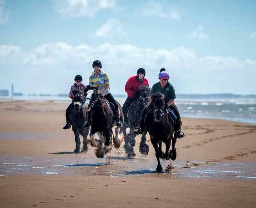
<path id="1" fill-rule="evenodd" d="M 116 0 L 56 0 L 56 10 L 63 16 L 90 16 L 116 6 Z"/>

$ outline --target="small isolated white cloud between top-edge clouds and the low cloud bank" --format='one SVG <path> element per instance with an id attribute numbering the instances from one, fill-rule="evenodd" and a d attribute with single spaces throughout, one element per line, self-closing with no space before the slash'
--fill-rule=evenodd
<path id="1" fill-rule="evenodd" d="M 112 35 L 124 35 L 123 25 L 118 20 L 109 19 L 104 25 L 96 31 L 97 37 L 110 37 Z"/>

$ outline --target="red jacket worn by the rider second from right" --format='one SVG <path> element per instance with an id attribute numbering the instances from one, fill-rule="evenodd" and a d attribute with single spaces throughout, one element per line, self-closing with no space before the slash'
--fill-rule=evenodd
<path id="1" fill-rule="evenodd" d="M 142 82 L 140 82 L 137 75 L 128 78 L 124 87 L 124 90 L 125 92 L 127 92 L 128 97 L 133 98 L 135 92 L 138 90 L 140 85 L 144 85 L 149 88 L 148 80 L 146 78 L 143 78 Z"/>

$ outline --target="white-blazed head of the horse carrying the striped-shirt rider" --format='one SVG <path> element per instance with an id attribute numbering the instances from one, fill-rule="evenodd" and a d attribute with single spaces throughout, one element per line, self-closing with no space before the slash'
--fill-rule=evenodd
<path id="1" fill-rule="evenodd" d="M 98 100 L 101 100 L 100 94 L 98 93 L 98 87 L 92 87 L 90 85 L 87 85 L 84 88 L 84 105 L 83 108 L 86 111 L 90 111 L 91 107 L 94 106 L 98 102 Z"/>

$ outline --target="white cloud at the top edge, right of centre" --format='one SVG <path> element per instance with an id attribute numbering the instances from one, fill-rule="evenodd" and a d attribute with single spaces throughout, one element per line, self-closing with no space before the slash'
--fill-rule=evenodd
<path id="1" fill-rule="evenodd" d="M 164 10 L 162 6 L 160 6 L 154 1 L 149 1 L 147 4 L 144 4 L 142 8 L 142 14 L 159 16 L 164 19 L 174 19 L 174 20 L 181 19 L 180 14 L 178 13 L 176 8 L 170 8 L 170 9 Z"/>

